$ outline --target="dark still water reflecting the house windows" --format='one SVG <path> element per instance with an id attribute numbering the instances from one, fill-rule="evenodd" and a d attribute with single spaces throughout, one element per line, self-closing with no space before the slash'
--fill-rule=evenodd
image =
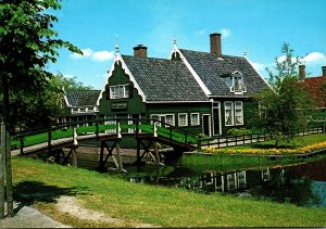
<path id="1" fill-rule="evenodd" d="M 181 165 L 125 167 L 130 182 L 220 192 L 240 198 L 258 198 L 304 207 L 326 207 L 326 157 L 291 166 L 263 169 L 193 171 Z M 134 171 L 133 171 L 134 169 Z"/>

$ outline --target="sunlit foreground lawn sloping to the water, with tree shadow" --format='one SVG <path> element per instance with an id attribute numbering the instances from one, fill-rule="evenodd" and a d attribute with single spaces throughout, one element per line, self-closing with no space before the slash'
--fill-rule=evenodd
<path id="1" fill-rule="evenodd" d="M 325 208 L 303 208 L 253 199 L 204 195 L 130 183 L 118 177 L 75 167 L 12 160 L 15 201 L 28 203 L 73 227 L 325 227 Z M 100 222 L 60 211 L 57 199 L 74 196 L 91 211 L 115 220 Z"/>

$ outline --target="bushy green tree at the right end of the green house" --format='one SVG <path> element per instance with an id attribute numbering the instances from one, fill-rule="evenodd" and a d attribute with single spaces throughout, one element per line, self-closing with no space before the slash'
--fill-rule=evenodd
<path id="1" fill-rule="evenodd" d="M 313 99 L 298 80 L 300 62 L 299 58 L 292 56 L 292 52 L 289 44 L 284 43 L 281 53 L 285 59 L 276 58 L 277 73 L 273 74 L 266 68 L 272 89 L 267 88 L 255 96 L 260 104 L 256 125 L 276 139 L 276 145 L 279 140 L 289 141 L 299 129 L 304 129 L 309 113 L 314 107 Z"/>

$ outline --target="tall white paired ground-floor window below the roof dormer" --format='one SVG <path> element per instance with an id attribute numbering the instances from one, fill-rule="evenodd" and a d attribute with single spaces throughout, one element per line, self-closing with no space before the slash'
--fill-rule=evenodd
<path id="1" fill-rule="evenodd" d="M 243 104 L 241 101 L 224 102 L 225 125 L 243 125 Z"/>

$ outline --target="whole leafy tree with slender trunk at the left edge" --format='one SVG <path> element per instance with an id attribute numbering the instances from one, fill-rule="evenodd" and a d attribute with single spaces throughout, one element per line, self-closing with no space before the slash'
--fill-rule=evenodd
<path id="1" fill-rule="evenodd" d="M 83 54 L 68 41 L 57 39 L 53 22 L 58 18 L 49 12 L 60 8 L 60 0 L 0 0 L 0 218 L 4 217 L 4 174 L 8 214 L 13 216 L 10 132 L 15 130 L 17 120 L 30 117 L 27 112 L 30 104 L 45 102 L 42 97 L 51 88 L 53 77 L 45 66 L 57 61 L 57 49 L 66 48 Z M 37 101 L 33 100 L 36 98 Z M 14 101 L 20 102 L 18 107 L 12 105 Z"/>

